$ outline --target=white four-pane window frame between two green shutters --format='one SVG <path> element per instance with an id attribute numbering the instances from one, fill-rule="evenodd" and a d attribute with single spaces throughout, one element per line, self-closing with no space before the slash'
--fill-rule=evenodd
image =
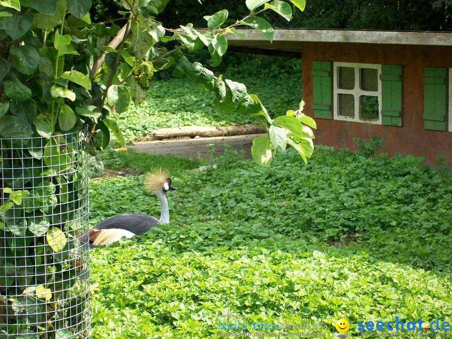
<path id="1" fill-rule="evenodd" d="M 355 68 L 355 88 L 354 89 L 342 89 L 338 88 L 338 77 L 337 68 L 338 67 L 351 67 Z M 360 68 L 372 68 L 377 70 L 377 91 L 367 91 L 360 88 Z M 361 64 L 354 62 L 333 62 L 333 107 L 334 107 L 334 119 L 343 121 L 352 121 L 355 123 L 366 123 L 381 125 L 381 65 L 378 64 Z M 339 114 L 339 107 L 337 105 L 337 94 L 352 94 L 355 98 L 355 117 L 341 116 Z M 377 120 L 367 120 L 360 118 L 360 96 L 370 95 L 378 97 L 378 119 Z"/>

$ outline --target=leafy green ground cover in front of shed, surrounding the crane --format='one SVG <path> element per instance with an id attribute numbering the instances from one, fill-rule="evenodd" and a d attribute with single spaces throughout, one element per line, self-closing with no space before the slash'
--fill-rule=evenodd
<path id="1" fill-rule="evenodd" d="M 116 169 L 168 166 L 179 189 L 170 224 L 91 252 L 94 338 L 218 337 L 216 316 L 234 313 L 325 323 L 330 338 L 341 317 L 353 335 L 363 320 L 452 316 L 448 170 L 327 147 L 308 165 L 288 150 L 271 168 L 229 155 L 203 172 L 196 161 L 113 154 L 105 163 Z M 143 178 L 92 182 L 92 224 L 158 214 Z"/>

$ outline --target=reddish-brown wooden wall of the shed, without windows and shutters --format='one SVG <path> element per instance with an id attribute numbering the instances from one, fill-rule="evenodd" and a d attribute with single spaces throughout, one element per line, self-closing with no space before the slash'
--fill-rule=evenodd
<path id="1" fill-rule="evenodd" d="M 403 65 L 402 127 L 316 119 L 316 144 L 354 150 L 353 138 L 384 138 L 391 155 L 400 152 L 422 156 L 427 164 L 434 164 L 436 155 L 442 154 L 446 165 L 452 168 L 452 132 L 425 130 L 422 119 L 424 68 L 452 67 L 452 47 L 305 42 L 301 53 L 304 112 L 311 117 L 314 60 Z"/>

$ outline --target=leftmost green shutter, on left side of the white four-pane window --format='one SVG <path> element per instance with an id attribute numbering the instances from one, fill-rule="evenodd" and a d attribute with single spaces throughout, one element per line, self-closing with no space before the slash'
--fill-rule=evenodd
<path id="1" fill-rule="evenodd" d="M 314 118 L 331 119 L 331 62 L 314 61 L 311 75 Z"/>

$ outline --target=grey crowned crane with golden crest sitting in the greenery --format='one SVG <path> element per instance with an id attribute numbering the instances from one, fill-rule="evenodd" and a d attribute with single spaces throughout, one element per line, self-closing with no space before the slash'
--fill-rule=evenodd
<path id="1" fill-rule="evenodd" d="M 160 219 L 139 213 L 110 216 L 88 231 L 90 248 L 107 246 L 121 240 L 123 237 L 140 236 L 158 223 L 169 223 L 166 192 L 177 188 L 171 186 L 168 171 L 162 169 L 153 171 L 146 178 L 144 186 L 147 190 L 157 193 L 161 205 Z"/>

